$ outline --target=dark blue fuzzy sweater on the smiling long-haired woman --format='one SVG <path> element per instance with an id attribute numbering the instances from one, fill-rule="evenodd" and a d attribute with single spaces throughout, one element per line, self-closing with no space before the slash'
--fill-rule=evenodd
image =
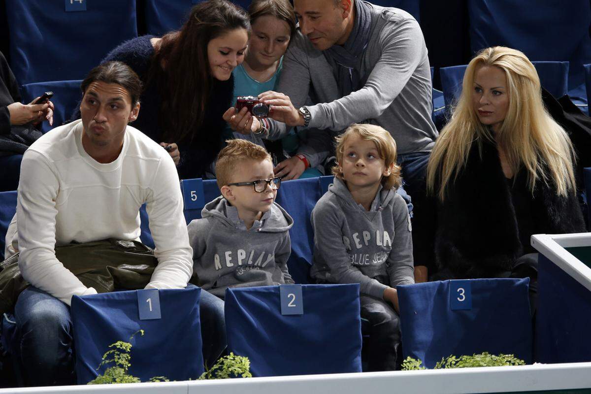
<path id="1" fill-rule="evenodd" d="M 181 154 L 177 170 L 181 179 L 203 178 L 224 145 L 222 133 L 226 122 L 223 121 L 222 115 L 232 106 L 233 77 L 224 82 L 214 80 L 210 100 L 205 110 L 207 118 L 202 126 L 193 132 L 192 139 L 189 136 L 183 141 L 163 141 L 167 125 L 163 124 L 164 121 L 160 116 L 160 92 L 158 92 L 155 82 L 147 80 L 150 60 L 154 55 L 154 47 L 150 43 L 151 38 L 154 36 L 144 35 L 125 41 L 113 49 L 103 59 L 103 62 L 119 60 L 128 64 L 144 83 L 144 92 L 140 97 L 139 116 L 132 125 L 158 143 L 177 143 Z M 199 89 L 199 86 L 195 86 L 194 89 Z"/>

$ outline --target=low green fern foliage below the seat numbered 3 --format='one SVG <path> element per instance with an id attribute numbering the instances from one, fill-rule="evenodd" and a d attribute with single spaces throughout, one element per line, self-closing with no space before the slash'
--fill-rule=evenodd
<path id="1" fill-rule="evenodd" d="M 402 363 L 402 370 L 418 370 L 426 369 L 421 360 L 415 360 L 412 357 L 407 357 Z M 433 369 L 449 369 L 449 368 L 470 368 L 470 367 L 501 367 L 525 365 L 524 360 L 520 360 L 513 354 L 489 354 L 486 351 L 481 354 L 472 354 L 472 356 L 448 356 L 435 365 Z"/>

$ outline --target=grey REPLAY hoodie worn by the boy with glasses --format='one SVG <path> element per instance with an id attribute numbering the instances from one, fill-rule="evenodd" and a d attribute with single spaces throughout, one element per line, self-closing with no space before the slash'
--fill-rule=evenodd
<path id="1" fill-rule="evenodd" d="M 228 287 L 293 284 L 287 259 L 294 222 L 279 204 L 273 203 L 250 230 L 222 196 L 203 207 L 202 218 L 188 226 L 191 283 L 220 298 Z"/>

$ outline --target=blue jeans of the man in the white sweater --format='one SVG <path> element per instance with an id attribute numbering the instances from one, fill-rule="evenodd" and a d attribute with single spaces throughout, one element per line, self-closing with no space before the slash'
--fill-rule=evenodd
<path id="1" fill-rule="evenodd" d="M 224 303 L 202 290 L 199 313 L 203 360 L 211 367 L 226 349 Z M 76 383 L 70 307 L 30 286 L 19 295 L 14 315 L 20 332 L 18 349 L 28 385 Z"/>

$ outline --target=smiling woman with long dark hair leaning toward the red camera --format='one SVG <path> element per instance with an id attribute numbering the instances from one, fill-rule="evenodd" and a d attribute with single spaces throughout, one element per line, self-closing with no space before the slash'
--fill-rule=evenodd
<path id="1" fill-rule="evenodd" d="M 141 78 L 134 126 L 167 149 L 181 179 L 207 177 L 223 148 L 222 115 L 233 105 L 232 71 L 244 60 L 250 28 L 242 8 L 208 0 L 179 31 L 126 41 L 103 60 L 123 61 Z"/>

